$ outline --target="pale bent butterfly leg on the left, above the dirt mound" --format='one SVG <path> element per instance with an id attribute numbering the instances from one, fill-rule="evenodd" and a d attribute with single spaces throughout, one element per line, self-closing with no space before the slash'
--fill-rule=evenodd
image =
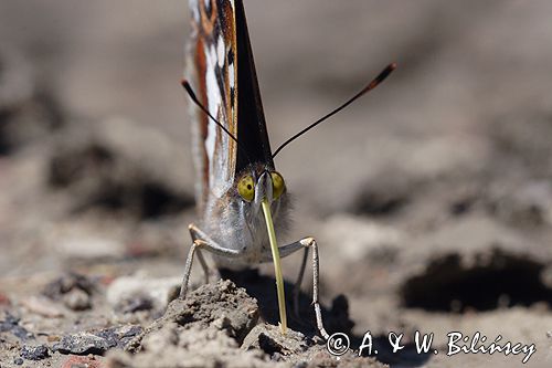
<path id="1" fill-rule="evenodd" d="M 184 298 L 188 292 L 188 284 L 190 281 L 190 273 L 192 271 L 193 256 L 195 253 L 198 253 L 198 259 L 200 260 L 200 263 L 203 267 L 203 271 L 206 274 L 206 277 L 209 277 L 209 267 L 203 257 L 203 254 L 201 254 L 201 250 L 205 250 L 213 254 L 226 257 L 238 257 L 240 255 L 242 255 L 241 251 L 219 245 L 215 241 L 210 239 L 203 231 L 201 231 L 194 224 L 190 224 L 188 228 L 190 230 L 193 243 L 192 246 L 190 246 L 190 251 L 188 252 L 188 259 L 185 260 L 184 276 L 182 278 L 182 286 L 180 287 L 180 298 Z"/>

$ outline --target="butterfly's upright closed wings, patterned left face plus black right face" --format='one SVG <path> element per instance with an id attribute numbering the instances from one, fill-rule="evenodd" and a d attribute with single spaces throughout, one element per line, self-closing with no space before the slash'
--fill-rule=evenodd
<path id="1" fill-rule="evenodd" d="M 209 196 L 222 197 L 250 164 L 274 168 L 242 0 L 190 0 L 192 36 L 188 71 L 198 98 L 232 140 L 200 109 L 193 109 L 200 211 Z M 240 87 L 240 88 L 238 88 Z"/>

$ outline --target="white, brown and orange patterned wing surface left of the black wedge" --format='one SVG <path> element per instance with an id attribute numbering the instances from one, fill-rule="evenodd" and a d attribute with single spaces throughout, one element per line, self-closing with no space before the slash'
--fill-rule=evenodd
<path id="1" fill-rule="evenodd" d="M 188 44 L 187 76 L 198 98 L 229 132 L 237 135 L 236 38 L 233 1 L 190 0 L 192 35 Z M 232 186 L 236 144 L 198 108 L 192 108 L 193 149 L 200 181 L 197 201 L 221 197 Z"/>

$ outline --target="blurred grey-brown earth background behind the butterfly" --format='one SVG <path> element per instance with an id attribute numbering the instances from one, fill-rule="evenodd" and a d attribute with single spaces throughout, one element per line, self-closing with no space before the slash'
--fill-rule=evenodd
<path id="1" fill-rule="evenodd" d="M 323 302 L 347 295 L 359 334 L 484 329 L 548 348 L 552 3 L 245 8 L 273 147 L 399 64 L 276 160 L 295 198 L 280 242 L 318 239 Z M 189 31 L 183 0 L 0 2 L 11 305 L 67 271 L 180 278 L 197 220 L 179 84 Z"/>

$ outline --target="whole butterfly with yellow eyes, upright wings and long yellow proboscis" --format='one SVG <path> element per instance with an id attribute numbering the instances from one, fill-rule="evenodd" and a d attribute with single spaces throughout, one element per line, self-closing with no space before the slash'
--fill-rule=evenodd
<path id="1" fill-rule="evenodd" d="M 274 153 L 270 149 L 263 104 L 253 60 L 242 0 L 189 0 L 192 34 L 188 44 L 183 81 L 198 108 L 191 111 L 192 147 L 199 180 L 195 199 L 200 222 L 190 224 L 192 246 L 188 254 L 180 296 L 188 291 L 197 255 L 209 274 L 202 252 L 209 252 L 217 267 L 241 270 L 274 262 L 280 311 L 286 330 L 284 282 L 279 260 L 304 250 L 294 293 L 297 296 L 312 250 L 312 305 L 317 327 L 328 338 L 318 302 L 318 244 L 311 236 L 277 246 L 276 233 L 288 224 L 289 197 L 274 157 L 289 143 L 374 88 L 394 69 L 389 65 L 365 88 L 347 103 L 302 129 Z M 195 86 L 195 94 L 192 85 Z"/>

